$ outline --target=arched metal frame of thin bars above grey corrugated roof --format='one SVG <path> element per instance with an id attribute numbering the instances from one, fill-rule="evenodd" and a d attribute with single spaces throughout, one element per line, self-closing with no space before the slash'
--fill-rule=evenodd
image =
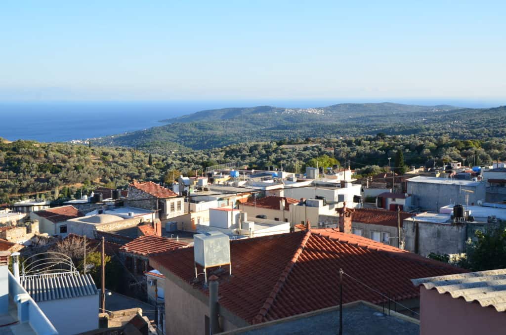
<path id="1" fill-rule="evenodd" d="M 27 258 L 22 264 L 23 278 L 36 275 L 77 273 L 72 259 L 61 253 L 41 253 Z"/>

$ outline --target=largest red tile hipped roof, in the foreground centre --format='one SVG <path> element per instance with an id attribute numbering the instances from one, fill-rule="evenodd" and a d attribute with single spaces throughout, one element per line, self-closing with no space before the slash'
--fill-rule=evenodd
<path id="1" fill-rule="evenodd" d="M 410 279 L 465 272 L 365 237 L 333 229 L 232 240 L 232 276 L 220 276 L 220 304 L 249 323 L 275 320 L 339 304 L 339 269 L 395 300 L 419 297 Z M 194 282 L 193 248 L 150 257 L 150 265 Z M 201 272 L 201 271 L 200 271 Z M 190 286 L 192 285 L 192 286 Z M 382 302 L 382 297 L 345 277 L 344 302 Z"/>

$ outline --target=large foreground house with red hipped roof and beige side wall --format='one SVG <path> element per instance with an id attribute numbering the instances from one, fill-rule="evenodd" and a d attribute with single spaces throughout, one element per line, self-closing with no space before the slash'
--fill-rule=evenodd
<path id="1" fill-rule="evenodd" d="M 409 281 L 414 274 L 463 272 L 448 264 L 333 229 L 228 241 L 229 246 L 220 239 L 223 245 L 204 244 L 202 249 L 182 248 L 149 258 L 150 265 L 165 276 L 167 334 L 204 334 L 209 326 L 215 327 L 214 333 L 233 331 L 333 307 L 339 303 L 336 282 L 339 282 L 340 268 L 366 285 L 345 279 L 344 291 L 353 294 L 344 295 L 343 303 L 357 300 L 381 303 L 381 296 L 367 287 L 377 287 L 381 278 L 382 286 L 389 287 L 389 294 L 399 297 L 397 301 L 411 309 L 418 308 L 419 298 L 418 289 Z M 202 253 L 213 255 L 207 254 L 208 247 L 222 250 L 224 254 L 229 250 L 231 265 L 213 266 L 212 259 L 205 270 L 200 263 L 196 265 Z M 221 257 L 217 261 L 223 263 Z M 307 284 L 311 282 L 318 284 Z M 209 297 L 215 294 L 219 300 L 213 300 L 210 305 Z"/>

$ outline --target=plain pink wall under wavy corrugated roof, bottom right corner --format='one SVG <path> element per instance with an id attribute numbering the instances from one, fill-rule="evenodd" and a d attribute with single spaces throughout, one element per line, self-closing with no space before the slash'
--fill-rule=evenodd
<path id="1" fill-rule="evenodd" d="M 420 335 L 485 335 L 506 332 L 506 313 L 420 286 Z"/>

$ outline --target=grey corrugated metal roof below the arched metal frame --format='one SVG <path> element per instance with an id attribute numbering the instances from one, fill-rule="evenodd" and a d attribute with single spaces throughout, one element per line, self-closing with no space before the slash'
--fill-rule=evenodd
<path id="1" fill-rule="evenodd" d="M 21 278 L 21 285 L 35 302 L 98 294 L 91 274 L 62 273 Z"/>

